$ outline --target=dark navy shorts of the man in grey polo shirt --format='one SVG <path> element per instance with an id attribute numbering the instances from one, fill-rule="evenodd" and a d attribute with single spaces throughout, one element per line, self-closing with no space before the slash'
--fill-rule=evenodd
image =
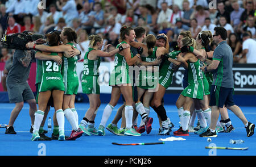
<path id="1" fill-rule="evenodd" d="M 233 88 L 221 87 L 212 85 L 210 87 L 210 106 L 217 106 L 223 108 L 223 106 L 233 106 Z"/>

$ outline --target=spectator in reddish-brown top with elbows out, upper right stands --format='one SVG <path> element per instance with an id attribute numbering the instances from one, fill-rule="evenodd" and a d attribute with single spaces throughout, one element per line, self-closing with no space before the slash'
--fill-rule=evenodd
<path id="1" fill-rule="evenodd" d="M 204 7 L 199 5 L 196 6 L 196 10 L 191 15 L 191 18 L 195 18 L 197 20 L 197 24 L 199 26 L 204 26 L 204 20 L 205 18 L 209 18 L 210 12 L 207 10 L 204 10 Z"/>

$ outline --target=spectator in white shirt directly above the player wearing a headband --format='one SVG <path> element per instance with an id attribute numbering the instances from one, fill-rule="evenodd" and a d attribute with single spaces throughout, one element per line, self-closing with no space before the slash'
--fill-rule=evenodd
<path id="1" fill-rule="evenodd" d="M 163 2 L 161 6 L 162 6 L 162 10 L 159 12 L 158 20 L 156 21 L 156 23 L 158 24 L 158 27 L 160 27 L 160 25 L 163 22 L 170 22 L 171 15 L 172 15 L 172 10 L 169 9 L 167 2 Z"/>

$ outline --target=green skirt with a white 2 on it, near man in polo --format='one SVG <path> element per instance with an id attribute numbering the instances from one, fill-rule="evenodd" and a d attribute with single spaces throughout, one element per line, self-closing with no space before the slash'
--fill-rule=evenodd
<path id="1" fill-rule="evenodd" d="M 181 92 L 184 97 L 193 99 L 204 99 L 203 83 L 188 83 L 188 86 Z"/>

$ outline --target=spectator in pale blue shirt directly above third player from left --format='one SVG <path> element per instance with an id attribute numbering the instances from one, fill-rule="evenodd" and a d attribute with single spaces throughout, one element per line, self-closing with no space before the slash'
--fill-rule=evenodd
<path id="1" fill-rule="evenodd" d="M 92 34 L 104 25 L 104 11 L 101 8 L 101 3 L 96 2 L 93 6 L 93 11 L 91 16 L 93 19 L 93 30 L 91 31 Z"/>

